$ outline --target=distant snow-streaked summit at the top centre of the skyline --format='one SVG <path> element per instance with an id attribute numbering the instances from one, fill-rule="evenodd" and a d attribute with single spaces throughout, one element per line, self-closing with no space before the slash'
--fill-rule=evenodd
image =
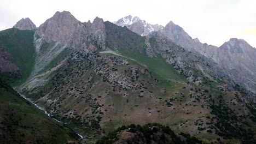
<path id="1" fill-rule="evenodd" d="M 135 16 L 126 16 L 118 21 L 113 22 L 115 25 L 121 26 L 121 27 L 127 27 L 129 28 L 132 32 L 135 32 L 139 35 L 145 36 L 148 35 L 149 33 L 152 33 L 154 31 L 158 31 L 159 29 L 162 29 L 163 26 L 161 25 L 151 25 L 147 21 L 139 19 L 139 17 Z"/>

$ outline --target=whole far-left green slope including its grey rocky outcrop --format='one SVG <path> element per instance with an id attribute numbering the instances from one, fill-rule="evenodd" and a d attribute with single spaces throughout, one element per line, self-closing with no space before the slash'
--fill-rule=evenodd
<path id="1" fill-rule="evenodd" d="M 10 28 L 0 32 L 0 75 L 13 86 L 25 82 L 34 67 L 33 40 L 34 31 L 30 30 Z"/>

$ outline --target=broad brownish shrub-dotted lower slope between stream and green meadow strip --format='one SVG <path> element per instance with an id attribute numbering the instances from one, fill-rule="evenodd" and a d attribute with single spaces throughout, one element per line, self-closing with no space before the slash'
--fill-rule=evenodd
<path id="1" fill-rule="evenodd" d="M 48 75 L 46 85 L 24 89 L 23 93 L 89 141 L 132 123 L 166 124 L 176 133 L 190 133 L 205 142 L 239 141 L 244 134 L 239 134 L 242 129 L 237 124 L 246 123 L 243 131 L 249 127 L 254 130 L 249 111 L 236 99 L 236 92 L 202 88 L 184 83 L 182 78 L 177 81 L 178 75 L 163 79 L 151 65 L 129 57 L 108 53 L 72 57 L 76 58 Z M 159 69 L 169 71 L 159 65 Z M 220 102 L 219 95 L 223 97 Z M 215 109 L 219 103 L 224 107 Z M 219 118 L 223 116 L 228 120 Z M 230 128 L 237 136 L 226 131 Z M 224 136 L 228 140 L 223 133 L 228 134 Z M 253 134 L 249 135 L 252 139 Z"/>

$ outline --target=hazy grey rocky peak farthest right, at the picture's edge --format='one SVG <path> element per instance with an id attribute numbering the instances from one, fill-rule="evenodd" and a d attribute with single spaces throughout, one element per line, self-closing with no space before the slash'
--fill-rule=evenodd
<path id="1" fill-rule="evenodd" d="M 230 39 L 213 59 L 237 83 L 256 93 L 256 49 L 245 40 Z"/>

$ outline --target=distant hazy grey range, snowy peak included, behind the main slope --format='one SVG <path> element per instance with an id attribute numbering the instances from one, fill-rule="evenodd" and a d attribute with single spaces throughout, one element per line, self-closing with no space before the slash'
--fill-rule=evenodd
<path id="1" fill-rule="evenodd" d="M 132 16 L 126 16 L 114 23 L 118 26 L 125 26 L 137 34 L 141 34 L 137 28 L 142 29 L 140 27 L 147 27 L 143 24 L 137 24 L 141 23 L 137 22 L 141 21 L 139 18 L 137 18 L 138 20 L 136 19 L 137 21 L 129 21 L 127 23 L 126 19 L 128 19 L 128 17 Z M 184 47 L 184 49 L 196 53 L 197 56 L 202 55 L 212 59 L 232 80 L 239 85 L 248 88 L 249 91 L 253 93 L 256 92 L 256 49 L 249 45 L 245 40 L 231 38 L 220 47 L 202 44 L 199 39 L 192 39 L 182 27 L 174 24 L 172 21 L 167 23 L 165 27 L 161 26 L 160 29 L 155 29 L 144 35 L 148 35 L 148 37 L 152 37 L 152 35 L 161 35 L 162 37 L 172 40 L 173 43 Z M 251 99 L 255 103 L 254 98 Z"/>

